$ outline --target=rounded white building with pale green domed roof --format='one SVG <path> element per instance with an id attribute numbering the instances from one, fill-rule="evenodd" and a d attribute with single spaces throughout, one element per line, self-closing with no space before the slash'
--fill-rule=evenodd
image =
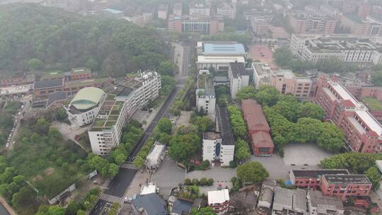
<path id="1" fill-rule="evenodd" d="M 105 98 L 106 94 L 100 88 L 82 88 L 76 93 L 71 103 L 64 106 L 71 126 L 80 127 L 91 124 L 96 119 Z"/>

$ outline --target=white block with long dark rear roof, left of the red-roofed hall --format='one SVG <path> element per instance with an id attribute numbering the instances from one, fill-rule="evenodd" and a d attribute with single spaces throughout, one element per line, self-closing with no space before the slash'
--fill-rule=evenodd
<path id="1" fill-rule="evenodd" d="M 217 110 L 216 132 L 203 134 L 203 160 L 208 160 L 212 165 L 229 165 L 235 152 L 233 134 L 227 108 L 219 106 Z"/>

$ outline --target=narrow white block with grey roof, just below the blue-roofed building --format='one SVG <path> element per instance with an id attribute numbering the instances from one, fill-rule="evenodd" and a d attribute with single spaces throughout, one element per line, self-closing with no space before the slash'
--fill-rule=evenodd
<path id="1" fill-rule="evenodd" d="M 216 97 L 214 90 L 214 78 L 209 74 L 197 76 L 197 110 L 207 114 L 215 113 Z"/>

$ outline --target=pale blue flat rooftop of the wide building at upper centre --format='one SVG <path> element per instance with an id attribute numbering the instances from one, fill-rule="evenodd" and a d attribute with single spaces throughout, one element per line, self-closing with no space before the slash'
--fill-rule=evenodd
<path id="1" fill-rule="evenodd" d="M 203 44 L 203 54 L 246 54 L 243 44 L 214 42 Z"/>

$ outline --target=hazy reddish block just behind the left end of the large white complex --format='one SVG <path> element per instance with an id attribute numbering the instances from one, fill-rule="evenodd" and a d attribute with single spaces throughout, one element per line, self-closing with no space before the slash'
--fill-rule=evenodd
<path id="1" fill-rule="evenodd" d="M 289 23 L 295 34 L 300 33 L 323 33 L 335 32 L 337 20 L 329 16 L 314 16 L 307 13 L 291 15 Z"/>

